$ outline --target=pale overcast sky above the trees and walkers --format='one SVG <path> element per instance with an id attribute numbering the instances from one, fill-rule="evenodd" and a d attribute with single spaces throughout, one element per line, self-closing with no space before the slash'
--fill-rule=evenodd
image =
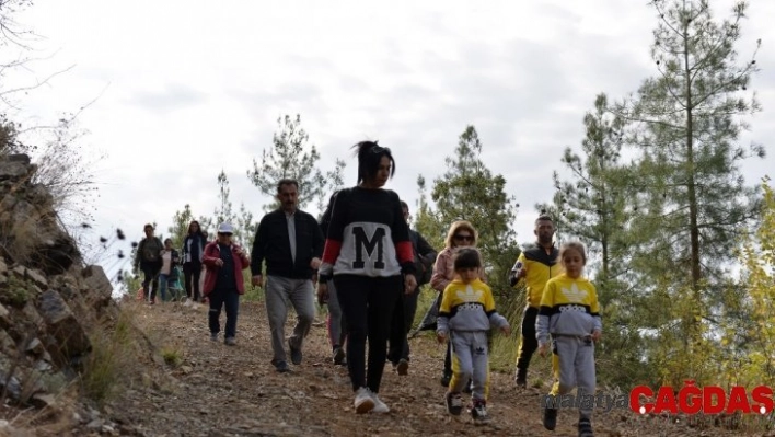
<path id="1" fill-rule="evenodd" d="M 743 166 L 756 183 L 775 168 L 775 1 L 750 3 L 738 50 L 747 59 L 762 39 L 752 89 L 764 111 L 742 141 L 770 152 Z M 712 5 L 728 16 L 732 1 Z M 221 169 L 234 206 L 259 218 L 269 199 L 246 171 L 277 117 L 298 113 L 323 169 L 347 161 L 348 185 L 352 143 L 390 147 L 388 187 L 412 207 L 417 175 L 432 183 L 473 124 L 485 164 L 521 205 L 518 239 L 531 241 L 533 206 L 551 198 L 552 171 L 565 172 L 559 158 L 580 145 L 594 96 L 621 99 L 656 73 L 645 0 L 49 0 L 16 21 L 43 37 L 34 47 L 47 59 L 4 87 L 73 67 L 18 96 L 12 116 L 47 124 L 99 96 L 79 117 L 90 131 L 82 143 L 106 153 L 93 169 L 97 232 L 119 227 L 136 240 L 149 221 L 166 233 L 185 204 L 211 215 Z"/>

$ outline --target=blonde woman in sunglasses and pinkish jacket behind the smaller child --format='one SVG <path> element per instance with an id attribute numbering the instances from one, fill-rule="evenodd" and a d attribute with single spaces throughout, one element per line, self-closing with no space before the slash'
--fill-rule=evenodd
<path id="1" fill-rule="evenodd" d="M 447 232 L 446 246 L 439 252 L 439 256 L 436 258 L 436 265 L 433 266 L 433 275 L 430 277 L 430 286 L 439 291 L 435 303 L 437 308 L 441 304 L 444 289 L 454 279 L 455 253 L 463 248 L 476 248 L 477 240 L 478 234 L 471 222 L 458 220 L 450 225 L 450 229 Z M 479 258 L 481 257 L 482 255 L 479 254 Z M 487 281 L 484 267 L 479 268 L 478 274 L 479 279 Z M 452 379 L 452 345 L 448 343 L 447 354 L 444 355 L 444 369 L 441 373 L 440 382 L 442 386 L 449 387 L 450 379 Z"/>

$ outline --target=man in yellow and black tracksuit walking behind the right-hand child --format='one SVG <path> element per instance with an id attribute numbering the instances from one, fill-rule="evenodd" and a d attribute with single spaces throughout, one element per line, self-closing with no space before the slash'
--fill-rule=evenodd
<path id="1" fill-rule="evenodd" d="M 554 235 L 554 222 L 546 215 L 535 219 L 533 233 L 537 238 L 534 246 L 523 251 L 517 258 L 509 281 L 511 286 L 517 286 L 524 278 L 527 283 L 528 304 L 522 314 L 522 329 L 517 355 L 517 375 L 514 380 L 518 387 L 528 384 L 528 366 L 533 353 L 539 347 L 535 341 L 535 318 L 539 315 L 541 295 L 544 291 L 546 281 L 559 275 L 563 269 L 557 264 L 557 254 L 552 237 Z"/>

